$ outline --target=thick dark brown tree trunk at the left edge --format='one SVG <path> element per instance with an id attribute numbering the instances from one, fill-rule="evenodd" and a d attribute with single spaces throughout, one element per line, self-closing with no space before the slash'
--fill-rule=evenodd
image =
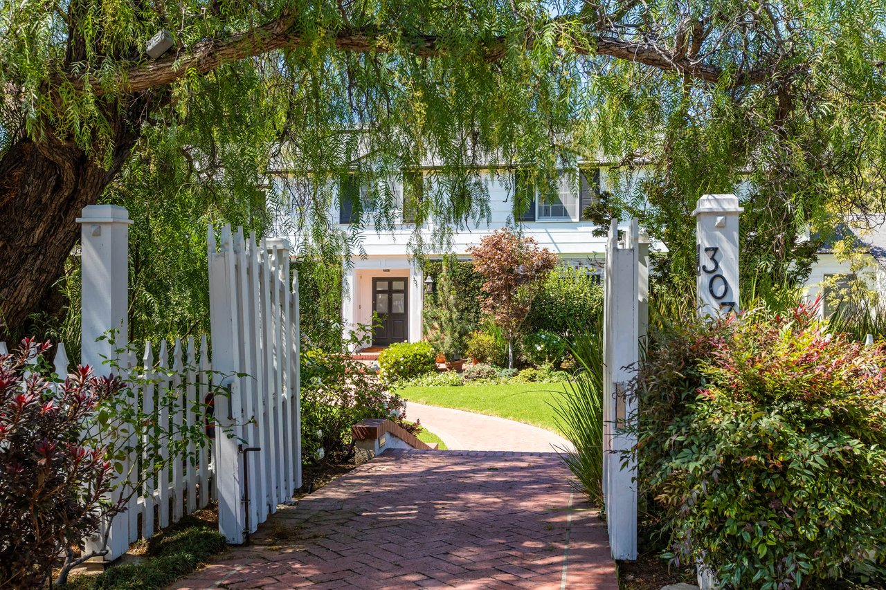
<path id="1" fill-rule="evenodd" d="M 0 341 L 18 338 L 51 295 L 80 236 L 76 218 L 119 174 L 146 107 L 135 100 L 111 116 L 110 167 L 102 167 L 101 154 L 91 158 L 56 138 L 21 139 L 0 159 Z"/>

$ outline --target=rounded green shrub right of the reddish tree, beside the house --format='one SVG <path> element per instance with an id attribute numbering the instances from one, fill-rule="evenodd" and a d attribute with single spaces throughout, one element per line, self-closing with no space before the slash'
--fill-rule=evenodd
<path id="1" fill-rule="evenodd" d="M 595 330 L 603 305 L 603 290 L 584 269 L 559 265 L 541 283 L 527 320 L 530 330 L 569 336 Z"/>

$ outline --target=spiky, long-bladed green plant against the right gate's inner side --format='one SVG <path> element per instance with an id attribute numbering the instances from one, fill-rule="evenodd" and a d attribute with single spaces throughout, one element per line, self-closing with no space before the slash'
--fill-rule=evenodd
<path id="1" fill-rule="evenodd" d="M 580 491 L 602 506 L 602 334 L 577 335 L 570 352 L 580 371 L 554 404 L 557 426 L 575 447 L 574 452 L 563 452 L 563 460 Z"/>

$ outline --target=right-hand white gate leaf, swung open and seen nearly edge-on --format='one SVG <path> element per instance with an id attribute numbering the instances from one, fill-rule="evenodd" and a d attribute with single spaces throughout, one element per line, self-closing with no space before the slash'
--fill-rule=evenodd
<path id="1" fill-rule="evenodd" d="M 623 468 L 623 452 L 636 443 L 626 431 L 637 412 L 628 395 L 640 361 L 640 338 L 649 322 L 649 239 L 632 220 L 618 240 L 612 220 L 603 276 L 603 500 L 615 559 L 637 558 L 637 466 Z"/>

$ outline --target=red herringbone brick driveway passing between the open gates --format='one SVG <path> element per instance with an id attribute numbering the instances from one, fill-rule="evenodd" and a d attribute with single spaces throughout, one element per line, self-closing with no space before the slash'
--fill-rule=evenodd
<path id="1" fill-rule="evenodd" d="M 556 454 L 388 451 L 171 587 L 617 590 L 569 475 Z"/>

